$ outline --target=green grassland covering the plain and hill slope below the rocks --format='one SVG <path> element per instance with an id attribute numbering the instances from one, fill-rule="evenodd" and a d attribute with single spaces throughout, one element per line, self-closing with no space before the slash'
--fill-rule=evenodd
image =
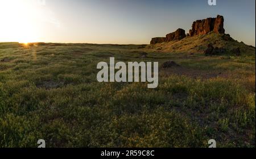
<path id="1" fill-rule="evenodd" d="M 227 53 L 204 56 L 209 40 Z M 109 57 L 181 67 L 160 68 L 156 89 L 99 83 Z M 255 147 L 255 48 L 237 41 L 0 43 L 0 60 L 0 147 Z"/>

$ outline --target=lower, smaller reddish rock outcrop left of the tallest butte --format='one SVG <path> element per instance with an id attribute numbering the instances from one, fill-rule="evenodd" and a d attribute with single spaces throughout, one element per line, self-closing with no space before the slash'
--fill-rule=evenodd
<path id="1" fill-rule="evenodd" d="M 150 41 L 150 44 L 181 40 L 184 37 L 186 37 L 185 30 L 179 28 L 175 32 L 167 34 L 166 37 L 154 37 L 154 38 L 152 38 L 152 40 Z"/>

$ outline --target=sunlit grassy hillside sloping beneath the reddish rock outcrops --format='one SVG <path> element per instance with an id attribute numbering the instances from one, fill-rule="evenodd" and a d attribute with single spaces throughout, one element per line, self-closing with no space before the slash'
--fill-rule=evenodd
<path id="1" fill-rule="evenodd" d="M 207 49 L 207 45 L 212 43 L 214 47 L 225 48 L 225 55 L 232 55 L 232 49 L 239 47 L 243 55 L 255 55 L 255 47 L 248 46 L 242 41 L 232 39 L 232 37 L 226 36 L 226 40 L 223 34 L 215 34 L 209 32 L 206 35 L 197 35 L 192 37 L 185 37 L 180 41 L 171 41 L 168 43 L 160 43 L 155 45 L 149 45 L 147 48 L 151 51 L 158 52 L 184 52 L 184 53 L 203 53 Z"/>

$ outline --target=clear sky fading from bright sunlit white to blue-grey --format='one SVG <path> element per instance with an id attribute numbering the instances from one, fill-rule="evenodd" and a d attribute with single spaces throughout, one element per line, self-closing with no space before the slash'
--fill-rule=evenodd
<path id="1" fill-rule="evenodd" d="M 255 46 L 255 0 L 0 0 L 0 41 L 148 44 L 223 15 L 226 34 Z"/>

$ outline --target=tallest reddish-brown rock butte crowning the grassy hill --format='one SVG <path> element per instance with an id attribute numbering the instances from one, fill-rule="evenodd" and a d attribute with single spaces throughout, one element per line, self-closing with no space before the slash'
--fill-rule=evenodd
<path id="1" fill-rule="evenodd" d="M 204 35 L 211 31 L 219 34 L 225 34 L 223 16 L 217 15 L 217 18 L 196 20 L 196 22 L 193 22 L 192 24 L 192 30 L 189 30 L 189 35 Z"/>

